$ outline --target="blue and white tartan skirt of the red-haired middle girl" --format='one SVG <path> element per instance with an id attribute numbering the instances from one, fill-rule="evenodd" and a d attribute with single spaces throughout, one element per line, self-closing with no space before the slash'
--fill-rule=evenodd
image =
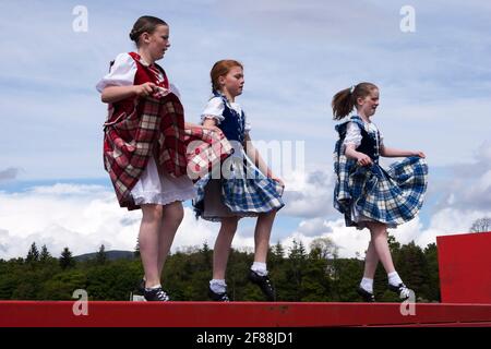
<path id="1" fill-rule="evenodd" d="M 278 210 L 283 202 L 284 186 L 277 181 L 264 176 L 243 153 L 242 157 L 230 156 L 224 163 L 226 170 L 220 173 L 221 202 L 237 216 L 258 216 L 261 213 Z M 205 217 L 204 195 L 205 186 L 213 178 L 213 172 L 206 174 L 194 185 L 197 191 L 193 201 L 197 217 L 217 221 L 220 217 Z"/>

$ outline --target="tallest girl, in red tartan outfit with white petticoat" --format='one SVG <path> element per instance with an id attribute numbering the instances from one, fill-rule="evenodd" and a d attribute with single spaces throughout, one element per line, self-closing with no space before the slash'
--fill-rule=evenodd
<path id="1" fill-rule="evenodd" d="M 183 122 L 179 92 L 169 84 L 164 70 L 155 63 L 170 47 L 167 23 L 157 17 L 142 16 L 135 22 L 130 38 L 135 41 L 137 52 L 119 55 L 111 64 L 110 72 L 97 84 L 101 100 L 109 104 L 109 117 L 105 124 L 105 167 L 110 173 L 120 205 L 129 209 L 140 206 L 143 212 L 139 243 L 145 270 L 144 297 L 147 301 L 167 301 L 169 297 L 160 285 L 161 270 L 183 218 L 181 202 L 193 198 L 195 189 L 185 176 L 185 170 L 175 171 L 175 176 L 170 176 L 166 169 L 179 163 L 183 163 L 180 168 L 185 169 L 185 145 L 179 143 L 182 141 L 180 136 L 183 128 L 203 127 Z M 168 112 L 163 120 L 169 122 L 171 117 L 168 116 L 176 117 L 175 112 L 177 113 L 171 119 L 172 123 L 165 129 L 166 133 L 170 130 L 177 135 L 159 136 L 176 141 L 180 146 L 176 146 L 172 153 L 165 148 L 165 144 L 169 144 L 166 141 L 163 148 L 169 153 L 165 153 L 166 156 L 160 153 L 158 157 L 154 151 L 155 137 L 141 142 L 148 133 L 142 118 L 145 117 L 146 109 L 152 109 L 145 107 L 145 103 L 155 96 L 168 96 L 166 106 L 171 105 L 172 112 Z M 155 104 L 152 105 L 154 106 Z M 134 122 L 129 122 L 130 119 Z M 124 122 L 124 127 L 118 129 L 117 125 L 121 122 Z M 161 128 L 154 129 L 158 131 L 156 133 L 163 133 Z M 206 129 L 220 132 L 217 128 Z M 145 149 L 145 156 L 137 154 Z M 124 151 L 130 153 L 125 154 Z"/>

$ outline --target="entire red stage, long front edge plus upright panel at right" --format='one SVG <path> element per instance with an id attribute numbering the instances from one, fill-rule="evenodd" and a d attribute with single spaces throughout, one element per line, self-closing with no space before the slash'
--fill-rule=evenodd
<path id="1" fill-rule="evenodd" d="M 490 326 L 491 232 L 436 242 L 444 303 L 412 304 L 415 315 L 404 316 L 408 304 L 399 303 L 88 302 L 88 314 L 76 316 L 74 301 L 0 301 L 0 326 Z"/>

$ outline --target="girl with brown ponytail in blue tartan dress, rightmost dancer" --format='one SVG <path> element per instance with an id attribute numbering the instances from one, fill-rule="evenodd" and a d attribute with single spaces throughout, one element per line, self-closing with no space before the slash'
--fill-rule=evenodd
<path id="1" fill-rule="evenodd" d="M 388 289 L 408 299 L 412 293 L 395 270 L 387 242 L 387 228 L 412 219 L 422 205 L 427 190 L 428 166 L 422 152 L 386 147 L 376 125 L 370 120 L 379 106 L 379 88 L 360 83 L 338 92 L 332 103 L 334 120 L 357 115 L 336 125 L 339 139 L 334 152 L 337 174 L 334 206 L 345 215 L 347 227 L 368 228 L 371 240 L 364 273 L 357 292 L 374 302 L 373 277 L 379 261 L 388 276 Z M 390 166 L 379 165 L 380 156 L 406 157 Z M 414 293 L 412 293 L 414 294 Z"/>

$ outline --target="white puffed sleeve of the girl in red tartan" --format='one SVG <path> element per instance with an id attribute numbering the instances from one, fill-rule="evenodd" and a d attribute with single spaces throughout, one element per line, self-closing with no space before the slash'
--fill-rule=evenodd
<path id="1" fill-rule="evenodd" d="M 103 92 L 106 86 L 130 86 L 134 84 L 136 74 L 136 63 L 128 53 L 120 53 L 116 57 L 110 71 L 96 85 L 98 92 Z"/>

